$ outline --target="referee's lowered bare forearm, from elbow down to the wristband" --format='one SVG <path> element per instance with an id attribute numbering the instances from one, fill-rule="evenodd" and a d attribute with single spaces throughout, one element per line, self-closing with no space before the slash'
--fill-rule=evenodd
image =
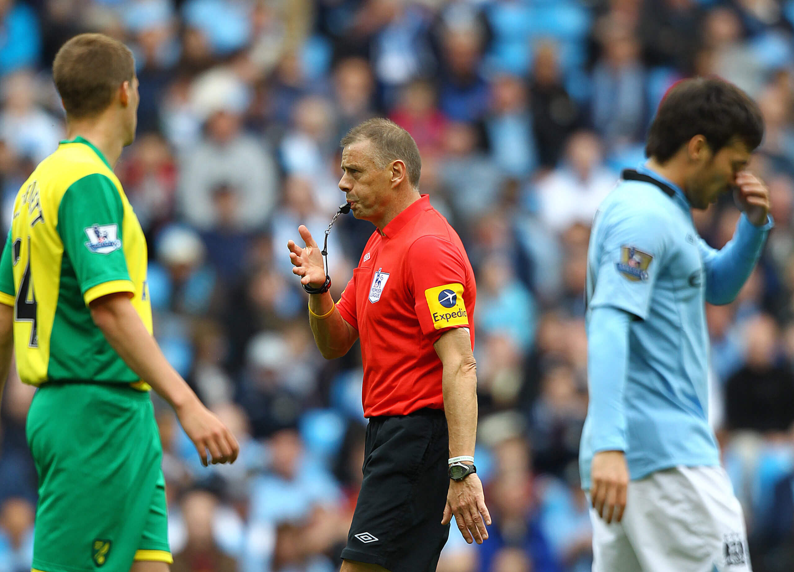
<path id="1" fill-rule="evenodd" d="M 474 359 L 444 367 L 444 410 L 449 428 L 449 456 L 474 456 L 477 436 L 477 373 Z"/>

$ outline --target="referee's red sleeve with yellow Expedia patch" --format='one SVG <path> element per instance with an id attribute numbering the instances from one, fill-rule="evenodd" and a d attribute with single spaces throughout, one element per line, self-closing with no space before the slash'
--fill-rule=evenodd
<path id="1" fill-rule="evenodd" d="M 436 338 L 450 328 L 468 328 L 466 301 L 474 293 L 465 290 L 466 265 L 455 245 L 422 236 L 408 249 L 406 264 L 422 333 Z"/>

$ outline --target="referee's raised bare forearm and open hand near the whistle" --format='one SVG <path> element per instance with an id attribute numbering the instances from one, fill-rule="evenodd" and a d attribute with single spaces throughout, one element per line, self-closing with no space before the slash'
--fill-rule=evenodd
<path id="1" fill-rule="evenodd" d="M 292 272 L 301 277 L 301 284 L 320 287 L 326 282 L 326 270 L 322 266 L 320 247 L 312 238 L 308 228 L 300 225 L 298 232 L 306 248 L 300 248 L 294 240 L 287 242 L 290 260 L 294 266 Z M 358 331 L 345 321 L 328 292 L 311 294 L 309 310 L 309 325 L 322 357 L 341 358 L 358 340 Z"/>

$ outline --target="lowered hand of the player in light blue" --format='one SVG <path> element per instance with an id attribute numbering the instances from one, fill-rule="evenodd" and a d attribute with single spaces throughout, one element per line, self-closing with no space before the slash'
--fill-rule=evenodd
<path id="1" fill-rule="evenodd" d="M 600 451 L 590 465 L 590 497 L 598 516 L 610 524 L 620 522 L 626 509 L 629 470 L 623 451 Z"/>

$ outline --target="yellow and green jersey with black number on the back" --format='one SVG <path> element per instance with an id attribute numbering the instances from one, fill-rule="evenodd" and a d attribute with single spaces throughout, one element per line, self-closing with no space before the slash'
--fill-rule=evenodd
<path id="1" fill-rule="evenodd" d="M 91 320 L 88 304 L 129 293 L 152 332 L 146 240 L 121 182 L 87 140 L 62 141 L 22 185 L 0 258 L 0 303 L 13 305 L 22 382 L 148 385 Z"/>

